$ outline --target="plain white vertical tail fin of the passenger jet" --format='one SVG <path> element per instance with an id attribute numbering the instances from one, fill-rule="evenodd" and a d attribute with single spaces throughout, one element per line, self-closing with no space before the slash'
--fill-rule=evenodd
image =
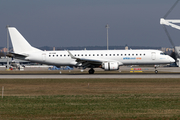
<path id="1" fill-rule="evenodd" d="M 26 52 L 41 51 L 37 48 L 32 47 L 16 28 L 8 27 L 8 30 L 13 45 L 14 53 L 20 54 Z"/>

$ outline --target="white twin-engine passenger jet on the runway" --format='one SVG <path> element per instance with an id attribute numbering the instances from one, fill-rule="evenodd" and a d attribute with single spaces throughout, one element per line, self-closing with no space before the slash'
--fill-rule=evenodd
<path id="1" fill-rule="evenodd" d="M 157 65 L 175 62 L 159 50 L 74 50 L 42 51 L 32 47 L 14 27 L 9 27 L 13 53 L 9 56 L 41 64 L 75 66 L 105 71 L 118 70 L 122 65 Z M 158 72 L 157 70 L 155 72 Z"/>

